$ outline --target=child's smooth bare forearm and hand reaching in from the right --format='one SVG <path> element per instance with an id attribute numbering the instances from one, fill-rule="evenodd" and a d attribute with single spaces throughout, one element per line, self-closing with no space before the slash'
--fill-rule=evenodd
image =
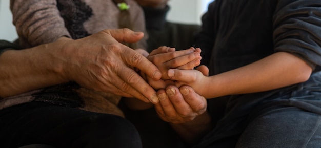
<path id="1" fill-rule="evenodd" d="M 273 90 L 306 81 L 312 68 L 301 58 L 277 52 L 250 65 L 217 74 L 204 76 L 196 70 L 168 71 L 177 86 L 186 84 L 205 98 Z"/>

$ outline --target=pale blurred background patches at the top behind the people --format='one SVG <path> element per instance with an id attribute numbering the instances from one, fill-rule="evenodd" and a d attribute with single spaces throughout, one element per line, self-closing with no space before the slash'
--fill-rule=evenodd
<path id="1" fill-rule="evenodd" d="M 171 7 L 167 19 L 171 22 L 200 24 L 200 17 L 207 11 L 207 5 L 213 0 L 170 0 Z M 13 41 L 17 33 L 12 24 L 9 9 L 10 0 L 0 0 L 0 39 Z"/>

